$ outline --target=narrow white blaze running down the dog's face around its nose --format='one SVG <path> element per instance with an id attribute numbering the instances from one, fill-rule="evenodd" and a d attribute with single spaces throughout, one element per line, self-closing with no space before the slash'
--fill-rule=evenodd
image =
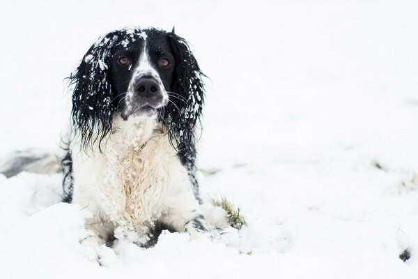
<path id="1" fill-rule="evenodd" d="M 141 36 L 141 38 L 144 38 L 144 50 L 142 51 L 141 56 L 139 56 L 137 67 L 134 68 L 134 74 L 132 75 L 132 80 L 130 80 L 130 84 L 127 89 L 127 96 L 125 100 L 128 110 L 130 110 L 130 108 L 132 109 L 132 106 L 134 106 L 134 104 L 132 103 L 132 99 L 135 94 L 134 84 L 137 80 L 141 79 L 142 77 L 152 77 L 157 81 L 158 86 L 160 86 L 160 91 L 162 93 L 162 105 L 167 104 L 169 100 L 167 91 L 164 89 L 164 85 L 162 84 L 161 77 L 158 74 L 157 70 L 155 70 L 153 64 L 150 62 L 146 34 L 144 33 L 144 36 Z"/>

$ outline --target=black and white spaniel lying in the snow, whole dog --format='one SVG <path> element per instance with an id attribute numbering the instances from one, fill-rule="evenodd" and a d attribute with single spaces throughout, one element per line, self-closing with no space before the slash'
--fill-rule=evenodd
<path id="1" fill-rule="evenodd" d="M 65 201 L 93 213 L 86 227 L 95 235 L 86 241 L 104 243 L 118 229 L 147 246 L 162 228 L 192 237 L 210 229 L 194 165 L 203 76 L 174 31 L 112 31 L 84 55 L 69 77 L 72 131 L 62 165 Z M 16 162 L 2 172 L 36 165 Z"/>

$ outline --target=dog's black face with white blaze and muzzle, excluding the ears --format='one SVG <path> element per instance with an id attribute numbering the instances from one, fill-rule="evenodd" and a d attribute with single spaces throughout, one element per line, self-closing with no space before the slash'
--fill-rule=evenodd
<path id="1" fill-rule="evenodd" d="M 167 33 L 141 33 L 136 40 L 114 47 L 109 78 L 113 105 L 124 119 L 154 116 L 169 102 L 176 57 Z"/>

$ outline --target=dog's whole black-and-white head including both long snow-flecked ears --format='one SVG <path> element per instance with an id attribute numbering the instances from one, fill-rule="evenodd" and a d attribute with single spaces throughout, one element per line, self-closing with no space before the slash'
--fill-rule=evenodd
<path id="1" fill-rule="evenodd" d="M 194 143 L 203 105 L 203 73 L 189 46 L 173 31 L 122 29 L 90 47 L 70 76 L 72 121 L 88 145 L 111 131 L 115 113 L 158 116 L 179 152 Z"/>

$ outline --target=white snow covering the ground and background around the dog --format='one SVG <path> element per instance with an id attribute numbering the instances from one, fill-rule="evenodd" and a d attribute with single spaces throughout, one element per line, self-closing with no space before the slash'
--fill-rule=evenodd
<path id="1" fill-rule="evenodd" d="M 0 7 L 1 155 L 54 149 L 63 79 L 98 36 L 174 25 L 210 77 L 201 191 L 247 220 L 215 241 L 121 242 L 99 266 L 59 174 L 0 176 L 0 278 L 418 278 L 417 1 Z"/>

